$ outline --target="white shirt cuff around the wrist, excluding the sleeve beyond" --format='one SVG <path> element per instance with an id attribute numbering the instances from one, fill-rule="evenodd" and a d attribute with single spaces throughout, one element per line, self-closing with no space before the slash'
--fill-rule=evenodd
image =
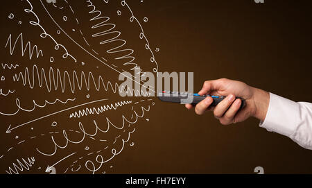
<path id="1" fill-rule="evenodd" d="M 270 103 L 266 118 L 259 126 L 287 137 L 292 137 L 300 119 L 298 103 L 270 93 Z"/>

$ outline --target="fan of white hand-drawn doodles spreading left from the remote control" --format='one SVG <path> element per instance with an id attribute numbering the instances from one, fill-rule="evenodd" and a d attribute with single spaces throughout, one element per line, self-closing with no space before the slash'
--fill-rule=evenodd
<path id="1" fill-rule="evenodd" d="M 141 91 L 119 85 L 115 78 L 107 77 L 105 71 L 99 75 L 94 72 L 103 67 L 109 67 L 118 74 L 123 74 L 125 70 L 137 71 L 137 75 L 129 78 L 146 87 L 143 80 L 138 82 L 136 79 L 137 76 L 144 76 L 145 72 L 139 67 L 135 50 L 125 38 L 121 38 L 122 31 L 112 22 L 111 16 L 105 15 L 98 8 L 100 6 L 96 6 L 98 2 L 85 0 L 82 3 L 89 15 L 88 27 L 83 25 L 85 19 L 80 19 L 80 10 L 75 8 L 73 1 L 60 0 L 56 3 L 53 0 L 26 0 L 19 3 L 24 3 L 24 6 L 20 6 L 23 9 L 10 10 L 12 13 L 6 15 L 6 22 L 15 22 L 17 26 L 23 24 L 17 27 L 17 31 L 8 28 L 8 34 L 4 36 L 6 40 L 3 41 L 3 51 L 8 54 L 8 60 L 1 62 L 1 83 L 12 87 L 0 88 L 0 100 L 10 105 L 10 108 L 0 108 L 0 118 L 7 123 L 6 131 L 1 131 L 0 134 L 6 134 L 12 140 L 3 146 L 0 164 L 10 160 L 21 148 L 33 149 L 34 157 L 18 157 L 10 166 L 0 165 L 6 167 L 2 172 L 12 174 L 41 170 L 40 173 L 55 174 L 55 168 L 58 168 L 58 173 L 108 173 L 106 169 L 112 171 L 113 166 L 108 162 L 120 155 L 126 146 L 135 145 L 130 141 L 130 135 L 137 128 L 135 124 L 144 118 L 144 113 L 149 112 L 150 106 L 155 103 L 153 99 L 120 99 L 120 92 L 130 93 L 130 96 L 136 96 L 137 93 L 140 96 L 149 95 L 147 92 L 142 94 Z M 37 5 L 33 6 L 33 3 Z M 100 3 L 103 3 L 103 8 L 110 1 Z M 35 7 L 41 7 L 46 15 L 38 15 Z M 58 12 L 58 18 L 54 11 Z M 26 16 L 21 16 L 21 12 Z M 148 67 L 157 74 L 158 64 L 152 46 L 128 3 L 120 0 L 119 8 L 114 10 L 112 16 L 128 17 L 127 22 L 134 23 L 133 28 L 138 31 L 137 39 L 144 40 L 145 43 L 141 48 L 150 55 Z M 142 22 L 148 22 L 148 18 L 144 17 Z M 53 25 L 52 30 L 46 27 L 49 23 Z M 72 27 L 66 30 L 61 27 L 62 24 L 71 23 Z M 31 30 L 24 29 L 24 26 Z M 74 35 L 80 37 L 80 40 Z M 107 51 L 101 51 L 102 46 L 110 47 Z M 77 49 L 80 51 L 76 52 Z M 83 53 L 85 58 L 81 58 L 82 55 L 78 53 Z M 67 63 L 73 63 L 74 66 Z M 83 70 L 78 70 L 75 66 L 80 66 Z M 24 91 L 34 92 L 28 94 Z M 110 93 L 117 99 L 112 95 L 97 98 L 96 95 L 100 93 L 104 96 Z M 114 118 L 106 115 L 113 112 Z M 19 118 L 21 114 L 26 115 Z M 59 117 L 65 117 L 66 122 Z M 87 123 L 89 118 L 93 122 Z M 116 123 L 114 119 L 120 121 Z M 70 145 L 81 149 L 71 151 Z M 60 163 L 69 165 L 62 169 L 58 166 Z"/>

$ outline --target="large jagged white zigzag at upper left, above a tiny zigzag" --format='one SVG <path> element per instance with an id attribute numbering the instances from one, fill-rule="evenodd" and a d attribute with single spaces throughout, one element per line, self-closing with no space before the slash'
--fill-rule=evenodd
<path id="1" fill-rule="evenodd" d="M 28 41 L 28 42 L 26 43 L 26 46 L 24 46 L 23 33 L 20 33 L 20 34 L 18 35 L 18 37 L 16 38 L 15 43 L 14 43 L 13 46 L 12 46 L 12 34 L 10 34 L 10 35 L 8 36 L 8 40 L 7 40 L 7 42 L 6 42 L 6 47 L 8 46 L 8 44 L 10 45 L 10 55 L 12 55 L 12 54 L 14 53 L 14 51 L 15 51 L 15 46 L 16 46 L 17 41 L 18 41 L 19 39 L 20 39 L 20 42 L 21 42 L 21 56 L 24 57 L 25 52 L 26 52 L 27 49 L 28 49 L 28 52 L 29 52 L 29 59 L 30 59 L 30 60 L 31 60 L 31 58 L 33 57 L 34 51 L 35 51 L 35 54 L 36 54 L 37 58 L 39 58 L 40 55 L 43 56 L 42 50 L 41 50 L 41 49 L 38 50 L 37 45 L 33 45 L 33 48 L 31 48 L 31 42 Z M 12 66 L 11 66 L 11 67 L 12 67 Z M 4 69 L 4 67 L 3 67 L 3 69 Z"/>

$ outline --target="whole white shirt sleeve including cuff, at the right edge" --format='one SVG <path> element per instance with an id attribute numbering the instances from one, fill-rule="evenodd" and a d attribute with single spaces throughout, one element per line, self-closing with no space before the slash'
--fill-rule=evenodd
<path id="1" fill-rule="evenodd" d="M 312 103 L 296 103 L 270 93 L 266 119 L 260 122 L 260 127 L 290 137 L 300 146 L 312 149 Z"/>

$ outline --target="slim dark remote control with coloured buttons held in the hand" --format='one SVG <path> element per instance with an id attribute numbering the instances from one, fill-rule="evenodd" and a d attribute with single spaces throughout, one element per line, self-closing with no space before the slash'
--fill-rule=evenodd
<path id="1" fill-rule="evenodd" d="M 158 98 L 160 101 L 165 101 L 165 102 L 171 102 L 171 103 L 181 103 L 181 99 L 187 99 L 187 96 L 193 95 L 193 103 L 192 105 L 196 105 L 200 101 L 204 100 L 207 96 L 211 96 L 212 99 L 214 99 L 214 102 L 211 103 L 210 106 L 216 106 L 218 103 L 220 103 L 223 99 L 225 99 L 226 96 L 214 96 L 214 95 L 199 95 L 199 94 L 193 94 L 193 93 L 187 93 L 184 92 L 180 94 L 180 92 L 168 92 L 164 91 L 162 93 L 158 94 Z M 241 99 L 241 97 L 236 97 L 236 99 Z M 241 99 L 241 107 L 243 108 L 246 105 L 245 99 Z"/>

